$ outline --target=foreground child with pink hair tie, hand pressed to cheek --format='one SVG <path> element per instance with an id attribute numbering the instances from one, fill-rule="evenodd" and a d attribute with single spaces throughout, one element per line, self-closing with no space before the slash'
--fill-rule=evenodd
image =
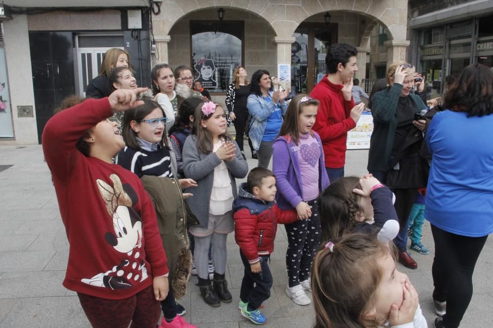
<path id="1" fill-rule="evenodd" d="M 390 247 L 368 234 L 327 242 L 315 256 L 315 328 L 426 328 L 418 293 Z"/>

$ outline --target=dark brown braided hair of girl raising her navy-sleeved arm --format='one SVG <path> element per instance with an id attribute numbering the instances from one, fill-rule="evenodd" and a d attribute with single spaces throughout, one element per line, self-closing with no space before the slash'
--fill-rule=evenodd
<path id="1" fill-rule="evenodd" d="M 360 195 L 352 189 L 361 189 L 358 177 L 346 177 L 332 182 L 319 197 L 318 210 L 321 213 L 322 240 L 339 238 L 352 231 L 356 214 L 360 211 Z"/>

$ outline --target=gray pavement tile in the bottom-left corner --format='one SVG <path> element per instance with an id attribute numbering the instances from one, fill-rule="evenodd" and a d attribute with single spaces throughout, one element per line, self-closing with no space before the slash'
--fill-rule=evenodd
<path id="1" fill-rule="evenodd" d="M 70 297 L 21 298 L 0 327 L 90 328 L 79 299 Z"/>

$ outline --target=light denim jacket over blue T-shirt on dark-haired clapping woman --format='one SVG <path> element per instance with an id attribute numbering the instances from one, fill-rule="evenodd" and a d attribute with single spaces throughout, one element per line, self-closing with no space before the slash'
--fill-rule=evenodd
<path id="1" fill-rule="evenodd" d="M 269 96 L 272 98 L 272 91 L 269 91 Z M 282 116 L 286 114 L 287 103 L 284 101 L 274 104 L 272 101 L 267 101 L 262 96 L 256 94 L 250 94 L 246 100 L 246 108 L 251 116 L 250 131 L 248 137 L 251 140 L 253 149 L 258 150 L 260 142 L 264 136 L 265 126 L 267 125 L 267 119 L 274 113 L 276 108 L 279 107 L 282 110 Z"/>

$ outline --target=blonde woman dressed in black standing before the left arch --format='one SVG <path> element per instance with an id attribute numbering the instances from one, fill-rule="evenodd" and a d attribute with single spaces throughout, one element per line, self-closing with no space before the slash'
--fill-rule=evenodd
<path id="1" fill-rule="evenodd" d="M 246 122 L 248 120 L 246 99 L 250 95 L 250 84 L 246 80 L 247 75 L 248 73 L 243 66 L 236 67 L 233 72 L 233 83 L 229 85 L 226 93 L 226 107 L 229 111 L 229 118 L 235 124 L 236 142 L 242 152 L 243 158 L 245 158 L 245 151 L 243 150 L 243 135 L 246 132 Z M 251 157 L 257 158 L 257 153 L 253 150 L 253 146 L 249 138 L 248 145 L 250 146 Z"/>

